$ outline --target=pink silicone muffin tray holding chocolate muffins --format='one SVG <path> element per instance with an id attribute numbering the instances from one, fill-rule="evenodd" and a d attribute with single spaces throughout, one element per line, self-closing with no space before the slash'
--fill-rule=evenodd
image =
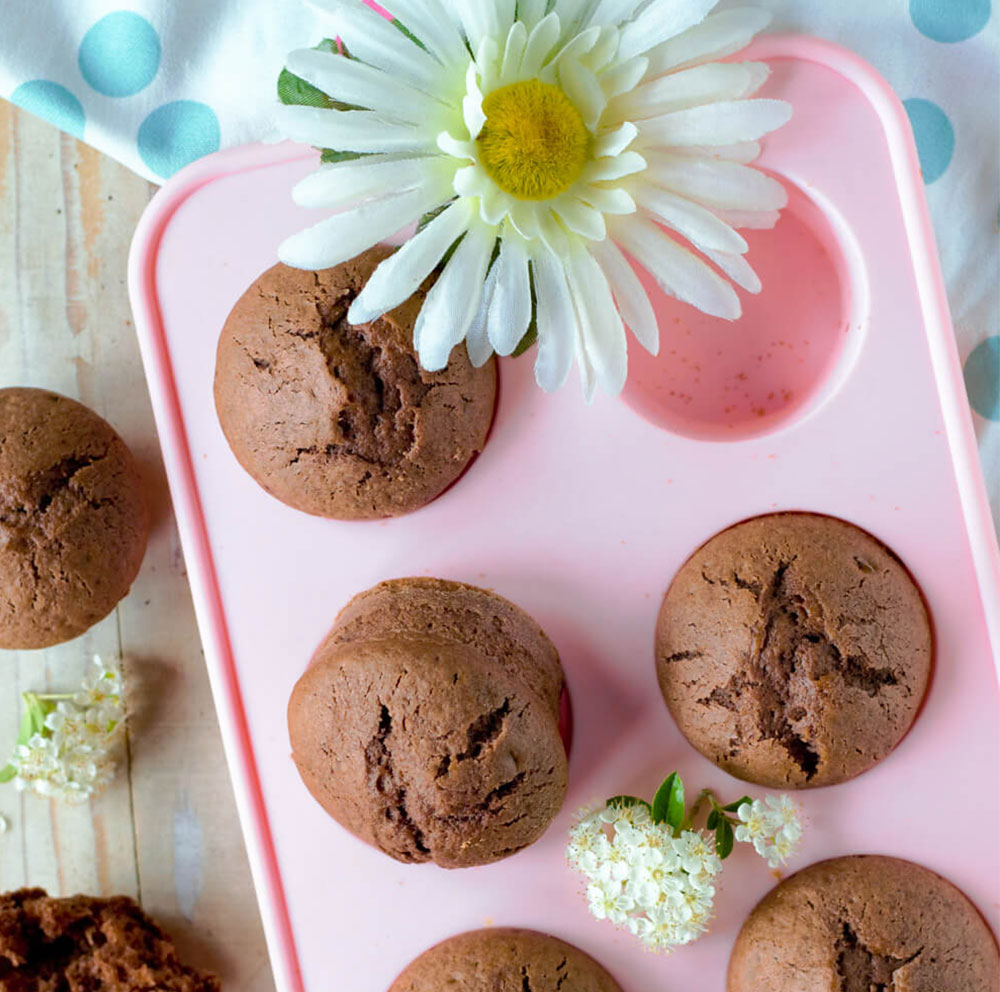
<path id="1" fill-rule="evenodd" d="M 769 38 L 751 56 L 771 61 L 767 93 L 795 117 L 761 162 L 791 203 L 774 231 L 751 232 L 765 291 L 743 322 L 658 296 L 660 357 L 633 344 L 625 395 L 591 407 L 575 382 L 542 394 L 530 357 L 503 361 L 486 450 L 400 519 L 339 523 L 283 506 L 239 467 L 215 416 L 220 329 L 279 241 L 314 219 L 289 191 L 315 154 L 213 156 L 144 217 L 137 328 L 283 992 L 385 992 L 425 948 L 493 924 L 579 945 L 625 992 L 722 992 L 736 932 L 775 883 L 748 847 L 727 862 L 710 934 L 670 957 L 591 919 L 563 850 L 580 807 L 649 795 L 675 768 L 692 789 L 744 791 L 671 721 L 653 627 L 703 541 L 775 510 L 832 514 L 885 541 L 920 583 L 937 639 L 926 704 L 897 750 L 852 782 L 798 794 L 808 826 L 788 870 L 857 852 L 911 858 L 996 930 L 1000 566 L 912 136 L 887 84 L 842 49 Z M 497 590 L 562 656 L 569 796 L 538 843 L 496 865 L 397 864 L 330 820 L 289 756 L 286 702 L 335 614 L 405 575 Z"/>

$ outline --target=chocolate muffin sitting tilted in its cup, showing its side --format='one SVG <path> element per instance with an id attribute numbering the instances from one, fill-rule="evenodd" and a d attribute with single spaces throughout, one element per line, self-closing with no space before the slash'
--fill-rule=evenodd
<path id="1" fill-rule="evenodd" d="M 512 603 L 384 582 L 347 605 L 295 686 L 293 758 L 323 808 L 391 857 L 488 864 L 562 806 L 562 689 L 555 648 Z"/>

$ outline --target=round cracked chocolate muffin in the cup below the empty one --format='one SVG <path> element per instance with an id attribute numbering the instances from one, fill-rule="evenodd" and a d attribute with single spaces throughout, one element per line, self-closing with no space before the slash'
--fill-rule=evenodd
<path id="1" fill-rule="evenodd" d="M 832 517 L 757 517 L 713 537 L 667 591 L 663 698 L 685 737 L 737 778 L 833 785 L 881 761 L 920 708 L 933 654 L 900 560 Z"/>

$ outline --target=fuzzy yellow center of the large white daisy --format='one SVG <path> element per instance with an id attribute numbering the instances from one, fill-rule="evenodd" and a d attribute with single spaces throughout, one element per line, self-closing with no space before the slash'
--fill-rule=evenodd
<path id="1" fill-rule="evenodd" d="M 504 192 L 547 200 L 580 178 L 590 132 L 559 87 L 537 79 L 511 83 L 483 100 L 483 113 L 479 161 Z"/>

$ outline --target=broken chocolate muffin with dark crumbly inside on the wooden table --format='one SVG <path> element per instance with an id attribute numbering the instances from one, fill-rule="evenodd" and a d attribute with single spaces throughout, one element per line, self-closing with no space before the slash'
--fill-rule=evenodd
<path id="1" fill-rule="evenodd" d="M 125 896 L 0 895 L 0 992 L 219 992 Z"/>

